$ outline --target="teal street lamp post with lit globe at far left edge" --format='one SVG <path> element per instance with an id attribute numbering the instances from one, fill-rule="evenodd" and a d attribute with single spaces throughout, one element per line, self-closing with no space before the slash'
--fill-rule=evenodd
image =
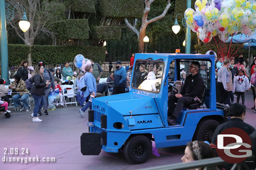
<path id="1" fill-rule="evenodd" d="M 14 18 L 14 10 L 16 7 L 21 5 L 16 5 L 13 10 L 10 10 L 8 7 L 10 5 L 6 4 L 7 10 L 5 10 L 5 0 L 0 0 L 0 55 L 1 55 L 1 78 L 5 79 L 6 84 L 10 84 L 9 81 L 9 63 L 8 63 L 8 39 L 7 39 L 7 30 L 6 30 L 6 21 L 9 22 Z M 19 22 L 19 26 L 23 32 L 26 32 L 30 23 L 26 18 L 26 12 L 24 10 L 23 17 Z M 5 15 L 6 13 L 6 15 Z M 10 15 L 12 15 L 10 17 Z"/>

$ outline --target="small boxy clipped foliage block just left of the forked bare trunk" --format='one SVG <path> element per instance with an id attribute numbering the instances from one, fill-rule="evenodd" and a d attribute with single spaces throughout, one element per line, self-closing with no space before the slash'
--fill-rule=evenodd
<path id="1" fill-rule="evenodd" d="M 99 26 L 95 28 L 95 35 L 102 40 L 120 40 L 121 27 Z"/>

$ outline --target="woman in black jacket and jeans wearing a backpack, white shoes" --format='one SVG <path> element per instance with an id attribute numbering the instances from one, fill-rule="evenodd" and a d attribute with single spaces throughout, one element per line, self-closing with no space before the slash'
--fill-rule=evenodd
<path id="1" fill-rule="evenodd" d="M 34 112 L 31 114 L 31 117 L 33 117 L 32 122 L 42 122 L 37 115 L 39 110 L 41 110 L 44 106 L 44 87 L 50 85 L 51 83 L 49 80 L 46 82 L 44 81 L 43 73 L 44 66 L 42 66 L 42 63 L 39 63 L 34 71 L 34 75 L 31 77 L 32 87 L 30 93 L 35 102 Z"/>

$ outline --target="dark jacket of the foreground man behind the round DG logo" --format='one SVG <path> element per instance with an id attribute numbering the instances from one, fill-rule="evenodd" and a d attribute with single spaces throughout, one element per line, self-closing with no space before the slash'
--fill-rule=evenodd
<path id="1" fill-rule="evenodd" d="M 223 130 L 230 128 L 230 127 L 237 127 L 239 129 L 244 130 L 248 135 L 250 135 L 255 129 L 250 124 L 243 122 L 240 118 L 232 118 L 228 119 L 227 122 L 220 124 L 214 134 L 212 135 L 212 143 L 215 144 L 217 140 L 217 135 L 220 134 Z"/>

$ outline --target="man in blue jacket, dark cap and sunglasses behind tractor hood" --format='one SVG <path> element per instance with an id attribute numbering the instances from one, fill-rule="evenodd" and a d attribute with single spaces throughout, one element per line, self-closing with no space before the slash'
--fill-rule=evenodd
<path id="1" fill-rule="evenodd" d="M 126 87 L 126 71 L 122 67 L 121 61 L 115 63 L 115 73 L 114 73 L 114 88 L 112 94 L 125 93 Z"/>

